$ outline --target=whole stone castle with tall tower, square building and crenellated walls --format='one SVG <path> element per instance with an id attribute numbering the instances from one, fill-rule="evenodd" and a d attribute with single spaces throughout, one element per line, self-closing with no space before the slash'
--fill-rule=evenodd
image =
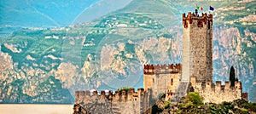
<path id="1" fill-rule="evenodd" d="M 189 91 L 198 92 L 204 102 L 247 100 L 241 82 L 212 83 L 212 14 L 183 14 L 183 64 L 144 65 L 143 88 L 122 91 L 76 91 L 74 114 L 151 113 L 161 94 L 178 101 Z M 235 78 L 235 75 L 232 77 Z"/>

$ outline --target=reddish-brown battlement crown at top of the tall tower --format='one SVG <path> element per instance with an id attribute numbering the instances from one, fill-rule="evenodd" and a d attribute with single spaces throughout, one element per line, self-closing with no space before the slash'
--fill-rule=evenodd
<path id="1" fill-rule="evenodd" d="M 189 26 L 189 24 L 193 23 L 193 21 L 197 22 L 198 27 L 203 27 L 204 25 L 208 25 L 210 28 L 210 26 L 212 26 L 212 14 L 202 13 L 201 16 L 197 13 L 191 14 L 191 12 L 189 12 L 189 14 L 187 16 L 186 16 L 186 14 L 183 14 L 184 28 L 187 28 Z"/>

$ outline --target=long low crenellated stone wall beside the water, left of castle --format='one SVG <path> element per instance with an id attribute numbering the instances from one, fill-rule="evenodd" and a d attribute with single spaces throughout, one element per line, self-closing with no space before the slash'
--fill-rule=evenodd
<path id="1" fill-rule="evenodd" d="M 128 91 L 76 91 L 75 104 L 81 105 L 90 113 L 143 113 L 149 109 L 149 97 L 151 90 L 147 92 L 138 88 L 137 92 L 132 88 Z"/>

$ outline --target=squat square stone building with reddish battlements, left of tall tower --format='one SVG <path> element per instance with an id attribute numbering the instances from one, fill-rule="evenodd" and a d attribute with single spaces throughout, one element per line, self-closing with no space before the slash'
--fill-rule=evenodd
<path id="1" fill-rule="evenodd" d="M 150 67 L 149 67 L 150 66 Z M 158 98 L 160 94 L 175 93 L 181 77 L 181 65 L 145 65 L 143 88 L 152 89 L 152 96 Z"/>

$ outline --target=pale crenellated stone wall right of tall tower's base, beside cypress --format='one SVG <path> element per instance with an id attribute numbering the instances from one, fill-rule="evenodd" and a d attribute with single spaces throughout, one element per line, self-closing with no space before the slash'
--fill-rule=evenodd
<path id="1" fill-rule="evenodd" d="M 215 84 L 212 82 L 201 83 L 196 82 L 195 77 L 191 77 L 190 83 L 192 84 L 195 92 L 198 92 L 205 102 L 221 103 L 223 101 L 241 100 L 241 82 L 236 81 L 235 86 L 230 86 L 230 82 L 225 82 L 224 85 L 220 81 Z"/>

